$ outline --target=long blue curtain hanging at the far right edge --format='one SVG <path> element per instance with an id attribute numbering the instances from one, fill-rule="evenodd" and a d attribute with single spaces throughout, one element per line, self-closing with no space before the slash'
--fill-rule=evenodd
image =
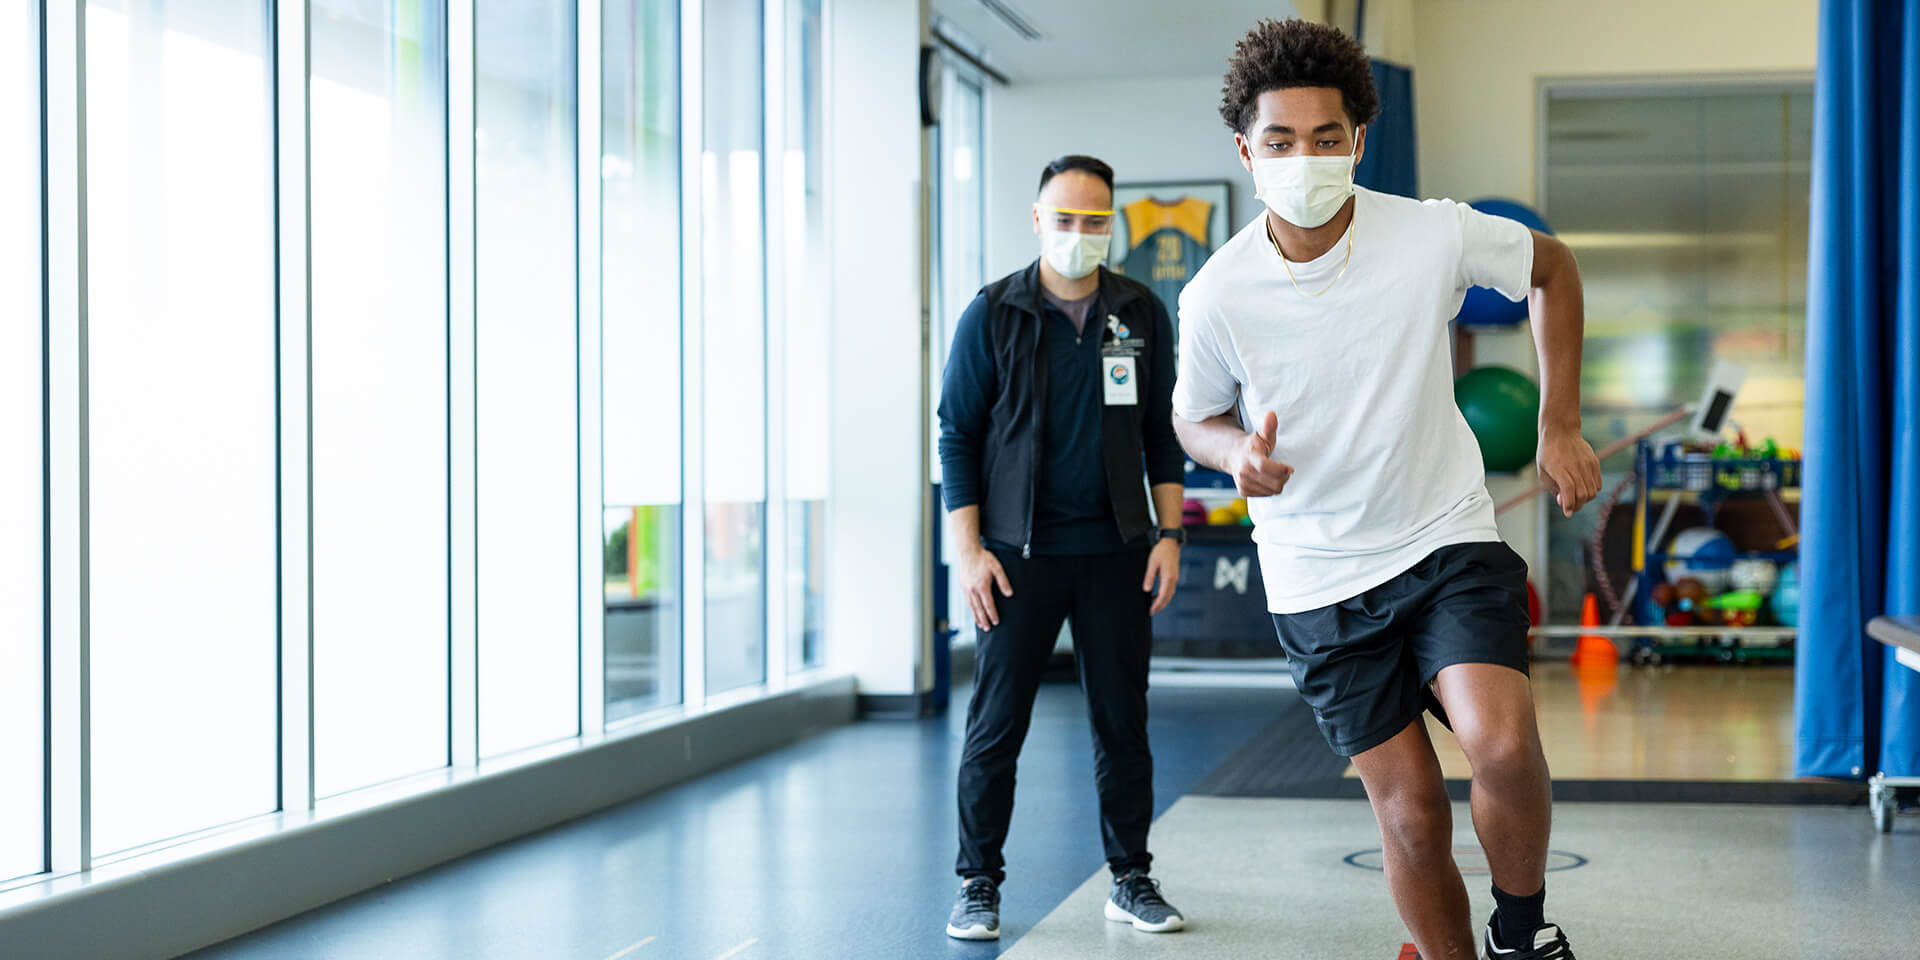
<path id="1" fill-rule="evenodd" d="M 1795 770 L 1920 776 L 1920 0 L 1822 0 Z"/>

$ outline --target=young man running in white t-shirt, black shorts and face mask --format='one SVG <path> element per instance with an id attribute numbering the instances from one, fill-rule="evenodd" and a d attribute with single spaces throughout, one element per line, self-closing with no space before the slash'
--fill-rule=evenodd
<path id="1" fill-rule="evenodd" d="M 1453 202 L 1354 186 L 1379 111 L 1367 56 L 1261 21 L 1221 117 L 1269 207 L 1181 296 L 1175 430 L 1250 497 L 1267 607 L 1321 733 L 1352 756 L 1386 881 L 1421 956 L 1475 956 L 1453 812 L 1421 720 L 1473 764 L 1494 874 L 1486 952 L 1572 960 L 1544 918 L 1551 789 L 1526 680 L 1526 564 L 1500 541 L 1453 405 L 1448 321 L 1469 286 L 1530 298 L 1540 476 L 1561 509 L 1599 490 L 1580 438 L 1580 275 L 1567 246 Z"/>

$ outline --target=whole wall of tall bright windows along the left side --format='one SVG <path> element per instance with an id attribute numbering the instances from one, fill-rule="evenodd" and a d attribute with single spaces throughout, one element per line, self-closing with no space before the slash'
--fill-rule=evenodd
<path id="1" fill-rule="evenodd" d="M 586 2 L 0 2 L 0 887 L 824 662 L 828 0 Z"/>

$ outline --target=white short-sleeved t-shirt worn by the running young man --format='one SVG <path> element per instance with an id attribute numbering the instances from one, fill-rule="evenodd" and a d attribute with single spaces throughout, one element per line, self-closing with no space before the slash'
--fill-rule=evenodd
<path id="1" fill-rule="evenodd" d="M 1281 495 L 1248 501 L 1273 612 L 1356 597 L 1450 543 L 1500 540 L 1480 447 L 1453 405 L 1448 321 L 1469 286 L 1526 296 L 1532 234 L 1452 200 L 1356 196 L 1348 236 L 1292 265 L 1298 290 L 1261 211 L 1181 294 L 1173 413 L 1238 411 L 1248 430 L 1279 415 L 1273 459 L 1294 474 Z"/>

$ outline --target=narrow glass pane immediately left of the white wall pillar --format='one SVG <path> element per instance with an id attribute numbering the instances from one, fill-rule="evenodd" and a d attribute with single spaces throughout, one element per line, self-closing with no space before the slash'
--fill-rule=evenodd
<path id="1" fill-rule="evenodd" d="M 828 236 L 820 109 L 820 0 L 787 0 L 787 109 L 780 177 L 787 430 L 787 668 L 822 662 L 828 501 Z"/>

